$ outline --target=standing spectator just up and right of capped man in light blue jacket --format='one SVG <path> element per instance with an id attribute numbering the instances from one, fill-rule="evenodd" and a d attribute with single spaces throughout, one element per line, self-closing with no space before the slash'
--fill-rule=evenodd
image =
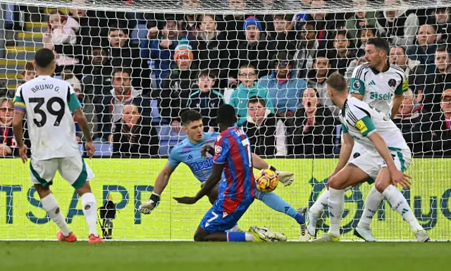
<path id="1" fill-rule="evenodd" d="M 319 43 L 316 40 L 314 23 L 307 22 L 302 26 L 299 44 L 295 53 L 297 77 L 304 79 L 311 68 Z"/>

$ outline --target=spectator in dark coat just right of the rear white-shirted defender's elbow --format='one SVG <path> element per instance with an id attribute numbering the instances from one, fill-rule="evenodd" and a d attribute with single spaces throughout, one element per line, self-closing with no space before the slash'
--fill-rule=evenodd
<path id="1" fill-rule="evenodd" d="M 421 151 L 421 103 L 416 101 L 414 92 L 409 89 L 404 92 L 400 109 L 397 111 L 393 122 L 400 128 L 402 136 L 412 152 Z"/>

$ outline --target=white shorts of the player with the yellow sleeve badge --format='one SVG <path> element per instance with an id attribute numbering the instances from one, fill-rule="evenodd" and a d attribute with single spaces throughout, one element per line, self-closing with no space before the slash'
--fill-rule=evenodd
<path id="1" fill-rule="evenodd" d="M 409 168 L 410 163 L 412 163 L 412 152 L 409 149 L 403 149 L 390 150 L 390 153 L 395 161 L 396 168 L 401 172 L 405 172 Z M 381 156 L 370 156 L 367 152 L 357 158 L 350 159 L 349 163 L 357 165 L 357 167 L 366 172 L 371 178 L 369 180 L 370 183 L 376 180 L 379 170 L 387 166 Z"/>

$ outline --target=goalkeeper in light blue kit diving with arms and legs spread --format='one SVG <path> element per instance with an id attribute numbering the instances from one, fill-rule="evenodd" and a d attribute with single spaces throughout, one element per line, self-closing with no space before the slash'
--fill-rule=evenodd
<path id="1" fill-rule="evenodd" d="M 202 115 L 200 115 L 197 111 L 185 111 L 181 115 L 181 120 L 183 124 L 183 131 L 187 134 L 187 139 L 176 145 L 169 154 L 168 163 L 164 166 L 163 170 L 161 170 L 158 177 L 156 177 L 154 191 L 152 192 L 149 201 L 142 203 L 139 207 L 140 213 L 147 215 L 159 205 L 161 193 L 163 193 L 164 189 L 168 185 L 169 178 L 180 163 L 185 163 L 191 169 L 194 177 L 196 177 L 202 184 L 206 182 L 206 179 L 208 179 L 211 174 L 213 158 L 202 155 L 202 151 L 204 153 L 206 151 L 208 152 L 208 146 L 213 148 L 214 142 L 216 141 L 219 133 L 204 132 Z M 253 168 L 257 168 L 258 170 L 269 168 L 276 172 L 279 182 L 281 182 L 285 187 L 292 184 L 294 181 L 294 174 L 292 172 L 281 172 L 276 170 L 276 168 L 268 165 L 268 163 L 266 163 L 255 153 L 252 153 L 252 160 Z M 214 189 L 212 189 L 207 196 L 209 197 L 210 203 L 214 204 L 216 199 L 218 199 L 218 185 L 216 185 L 216 187 L 214 187 Z M 257 191 L 256 198 L 263 201 L 263 203 L 265 203 L 269 208 L 280 213 L 285 213 L 291 218 L 294 218 L 301 227 L 302 239 L 305 237 L 304 216 L 298 213 L 295 208 L 292 208 L 292 206 L 285 202 L 283 198 L 280 198 L 280 196 L 273 192 L 263 193 L 261 191 Z M 230 230 L 237 231 L 239 229 L 237 225 L 235 225 L 235 227 Z"/>

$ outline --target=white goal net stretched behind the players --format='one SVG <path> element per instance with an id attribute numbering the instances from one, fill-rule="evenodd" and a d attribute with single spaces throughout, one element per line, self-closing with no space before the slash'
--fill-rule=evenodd
<path id="1" fill-rule="evenodd" d="M 295 182 L 279 184 L 275 193 L 294 208 L 311 206 L 326 190 L 342 141 L 340 111 L 326 92 L 333 73 L 393 118 L 414 156 L 407 169 L 412 187 L 402 193 L 431 239 L 450 239 L 451 1 L 0 3 L 0 239 L 52 240 L 57 232 L 11 130 L 11 99 L 19 84 L 35 77 L 30 61 L 43 47 L 55 52 L 55 76 L 70 82 L 89 121 L 97 151 L 85 160 L 96 175 L 90 184 L 97 206 L 104 206 L 99 232 L 113 240 L 191 240 L 209 210 L 206 197 L 192 206 L 173 200 L 194 196 L 201 183 L 192 171 L 206 177 L 211 168 L 211 158 L 189 155 L 195 144 L 180 128 L 187 109 L 202 114 L 204 132 L 217 132 L 218 106 L 234 106 L 252 151 L 295 173 Z M 386 70 L 383 53 L 366 51 L 374 37 L 388 41 L 387 61 L 396 67 Z M 368 74 L 359 73 L 357 66 L 368 60 Z M 85 155 L 85 137 L 75 127 Z M 24 137 L 27 144 L 26 130 Z M 158 208 L 140 214 L 137 207 L 152 194 L 177 144 L 186 164 L 171 175 Z M 344 239 L 357 239 L 352 232 L 370 189 L 365 182 L 346 192 Z M 57 175 L 51 190 L 69 227 L 87 237 L 73 188 Z M 391 207 L 385 200 L 376 210 L 376 239 L 414 239 Z M 266 226 L 296 240 L 299 225 L 286 211 L 255 201 L 238 225 Z M 326 208 L 319 234 L 328 225 Z"/>

